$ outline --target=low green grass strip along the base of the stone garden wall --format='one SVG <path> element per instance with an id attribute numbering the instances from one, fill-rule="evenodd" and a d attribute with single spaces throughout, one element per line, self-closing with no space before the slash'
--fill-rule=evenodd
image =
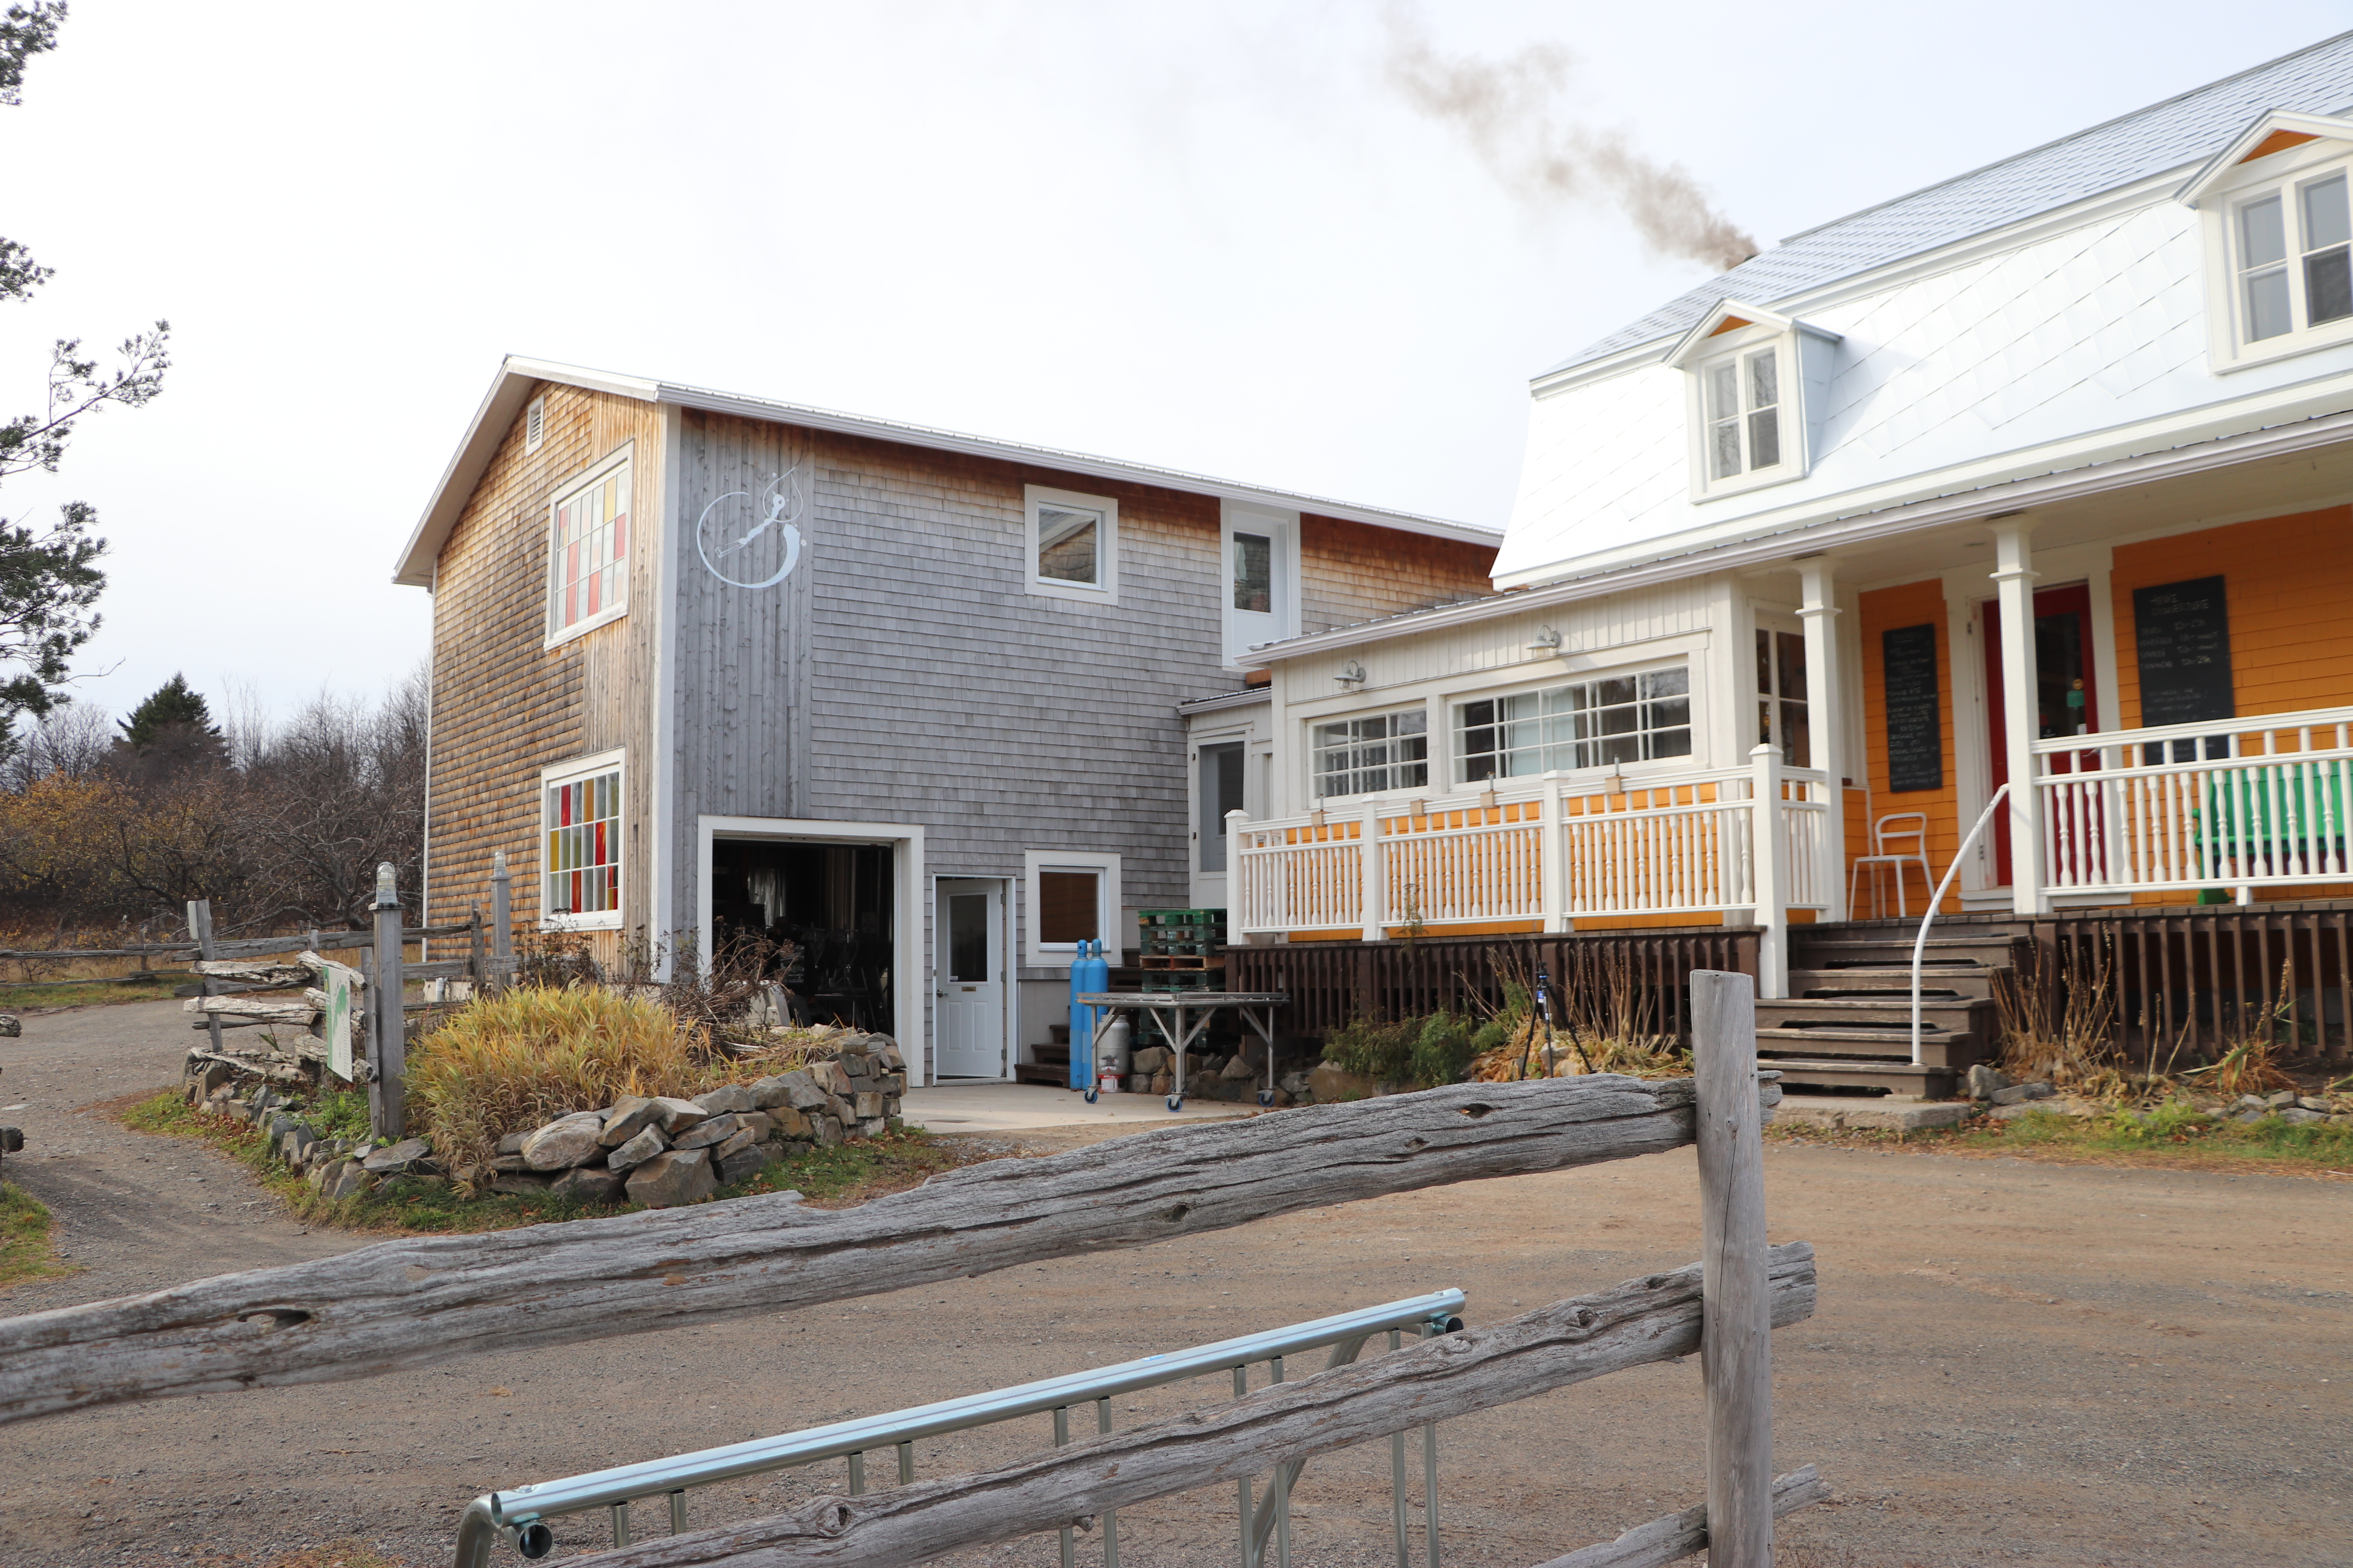
<path id="1" fill-rule="evenodd" d="M 365 1095 L 329 1098 L 360 1100 L 358 1114 L 365 1128 Z M 304 1117 L 308 1114 L 306 1110 Z M 238 1117 L 195 1110 L 172 1091 L 125 1110 L 122 1126 L 139 1133 L 198 1138 L 238 1159 L 296 1218 L 336 1229 L 482 1232 L 546 1225 L 553 1220 L 588 1220 L 638 1208 L 635 1204 L 579 1204 L 553 1192 L 489 1192 L 478 1199 L 464 1199 L 447 1182 L 421 1178 L 402 1178 L 362 1197 L 322 1199 L 282 1159 L 271 1154 L 261 1128 Z M 791 1190 L 819 1208 L 849 1208 L 852 1204 L 915 1187 L 941 1171 L 993 1157 L 998 1157 L 995 1150 L 981 1150 L 960 1140 L 936 1140 L 925 1131 L 911 1128 L 866 1143 L 791 1154 L 734 1187 L 720 1187 L 718 1197 L 734 1199 Z"/>

